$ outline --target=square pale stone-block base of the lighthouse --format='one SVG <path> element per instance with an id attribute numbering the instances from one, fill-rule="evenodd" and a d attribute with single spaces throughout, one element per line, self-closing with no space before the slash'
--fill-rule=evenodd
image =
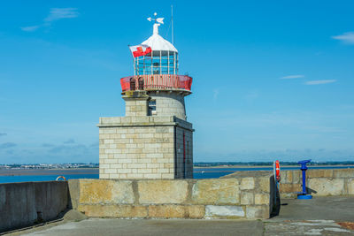
<path id="1" fill-rule="evenodd" d="M 193 178 L 193 128 L 189 122 L 136 116 L 100 118 L 98 127 L 100 179 Z"/>

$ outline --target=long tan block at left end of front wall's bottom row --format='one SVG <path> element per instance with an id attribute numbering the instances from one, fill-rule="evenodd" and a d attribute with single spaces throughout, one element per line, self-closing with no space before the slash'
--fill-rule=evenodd
<path id="1" fill-rule="evenodd" d="M 78 210 L 88 217 L 148 217 L 146 206 L 135 205 L 79 205 Z"/>

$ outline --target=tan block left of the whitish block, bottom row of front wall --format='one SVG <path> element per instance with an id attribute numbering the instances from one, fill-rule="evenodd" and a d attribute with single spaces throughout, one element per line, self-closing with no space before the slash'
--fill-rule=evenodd
<path id="1" fill-rule="evenodd" d="M 156 218 L 203 218 L 204 206 L 150 205 L 149 217 Z"/>

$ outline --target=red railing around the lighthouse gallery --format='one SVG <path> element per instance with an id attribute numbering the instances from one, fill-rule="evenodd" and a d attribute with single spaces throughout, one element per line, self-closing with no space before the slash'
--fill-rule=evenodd
<path id="1" fill-rule="evenodd" d="M 192 78 L 187 75 L 150 74 L 135 75 L 120 79 L 122 91 L 129 90 L 158 90 L 158 89 L 184 89 L 192 87 Z"/>

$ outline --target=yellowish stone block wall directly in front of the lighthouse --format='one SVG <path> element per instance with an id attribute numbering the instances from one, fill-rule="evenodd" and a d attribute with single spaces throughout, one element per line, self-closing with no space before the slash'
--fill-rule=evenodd
<path id="1" fill-rule="evenodd" d="M 69 189 L 89 217 L 254 219 L 270 217 L 272 179 L 71 179 Z"/>

